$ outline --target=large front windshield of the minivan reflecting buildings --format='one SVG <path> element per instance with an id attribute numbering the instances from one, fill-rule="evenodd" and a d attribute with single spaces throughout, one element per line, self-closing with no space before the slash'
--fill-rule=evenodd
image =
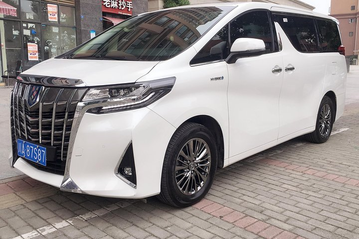
<path id="1" fill-rule="evenodd" d="M 233 8 L 188 7 L 135 16 L 66 54 L 66 58 L 167 60 L 188 48 Z"/>

